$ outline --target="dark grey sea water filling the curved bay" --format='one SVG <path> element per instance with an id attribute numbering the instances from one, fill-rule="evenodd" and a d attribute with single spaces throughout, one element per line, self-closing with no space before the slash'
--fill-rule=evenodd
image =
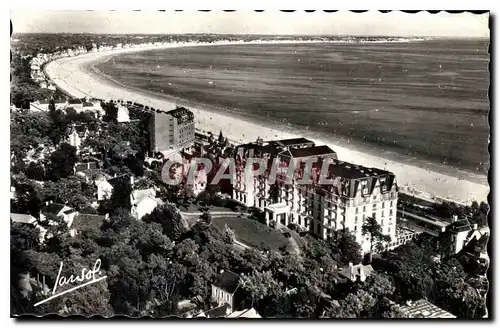
<path id="1" fill-rule="evenodd" d="M 155 94 L 486 175 L 489 40 L 243 44 L 121 54 L 96 68 Z"/>

